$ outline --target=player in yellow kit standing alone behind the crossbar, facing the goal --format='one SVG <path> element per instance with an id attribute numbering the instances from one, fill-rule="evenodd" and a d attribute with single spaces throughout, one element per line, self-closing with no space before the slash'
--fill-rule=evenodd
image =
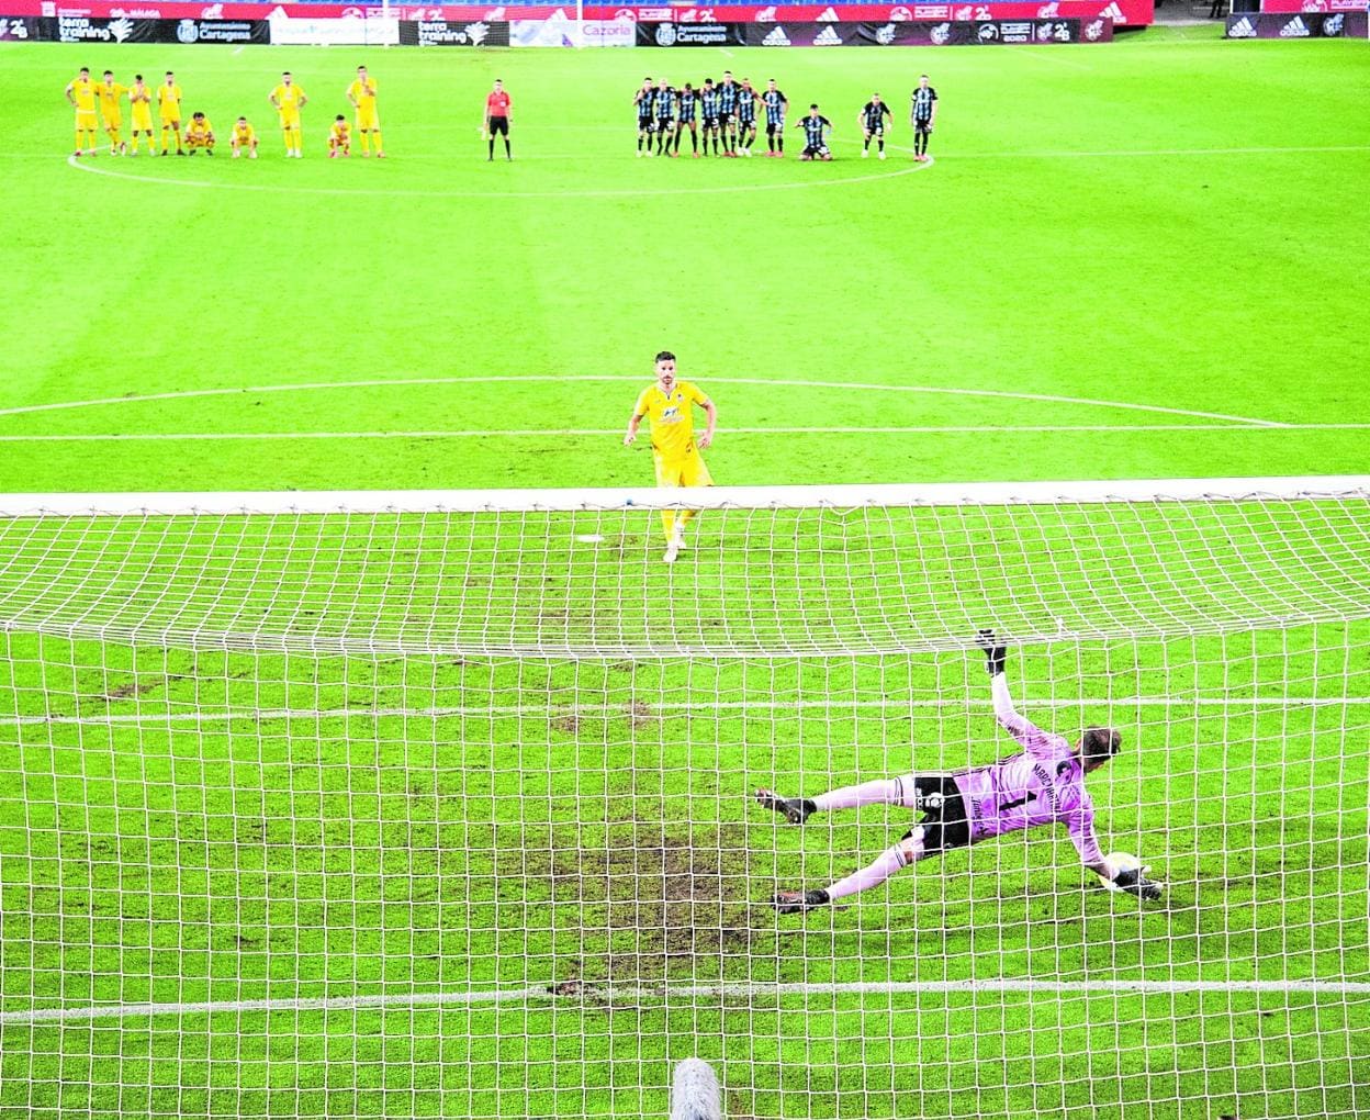
<path id="1" fill-rule="evenodd" d="M 708 428 L 695 439 L 693 407 L 699 404 L 708 415 Z M 714 441 L 718 426 L 718 409 L 696 385 L 675 378 L 675 355 L 663 350 L 656 355 L 656 384 L 648 385 L 637 398 L 633 415 L 627 421 L 623 446 L 637 439 L 637 426 L 643 417 L 649 417 L 652 429 L 652 459 L 656 463 L 656 485 L 659 487 L 711 487 L 714 480 L 704 466 L 699 452 Z M 695 517 L 695 510 L 662 510 L 662 528 L 666 531 L 666 563 L 685 547 L 685 526 Z"/>

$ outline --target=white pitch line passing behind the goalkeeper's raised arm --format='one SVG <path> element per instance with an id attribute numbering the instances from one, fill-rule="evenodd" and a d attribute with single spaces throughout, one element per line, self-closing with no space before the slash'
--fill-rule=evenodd
<path id="1" fill-rule="evenodd" d="M 634 694 L 636 695 L 636 694 Z M 1036 701 L 1026 705 L 1028 710 L 1096 709 L 1110 710 L 1128 707 L 1217 707 L 1245 710 L 1254 707 L 1295 709 L 1295 707 L 1345 707 L 1370 705 L 1370 696 L 1114 696 L 1104 699 L 1077 698 Z M 271 709 L 230 709 L 226 711 L 160 711 L 100 716 L 7 716 L 0 718 L 0 727 L 164 727 L 167 724 L 227 724 L 238 720 L 269 722 L 277 720 L 441 720 L 456 717 L 551 717 L 551 716 L 660 716 L 693 711 L 908 711 L 910 709 L 949 709 L 954 711 L 992 707 L 989 701 L 978 699 L 910 699 L 910 701 L 700 701 L 648 705 L 647 711 L 629 711 L 627 703 L 545 703 L 545 705 L 453 705 L 443 707 L 271 707 Z"/>

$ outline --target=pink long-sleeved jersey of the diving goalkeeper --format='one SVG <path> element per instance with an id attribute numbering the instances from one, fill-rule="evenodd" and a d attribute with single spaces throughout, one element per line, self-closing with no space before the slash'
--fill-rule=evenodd
<path id="1" fill-rule="evenodd" d="M 995 676 L 993 692 L 995 716 L 1022 744 L 1022 753 L 992 766 L 952 775 L 970 817 L 970 842 L 1063 824 L 1081 862 L 1101 864 L 1104 857 L 1095 839 L 1095 806 L 1070 743 L 1014 711 L 1003 673 Z"/>

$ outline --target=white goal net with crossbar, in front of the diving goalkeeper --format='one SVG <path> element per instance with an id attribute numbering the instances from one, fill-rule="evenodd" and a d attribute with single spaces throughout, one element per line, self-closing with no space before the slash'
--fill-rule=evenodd
<path id="1" fill-rule="evenodd" d="M 680 496 L 0 496 L 0 1115 L 1370 1115 L 1370 480 Z"/>

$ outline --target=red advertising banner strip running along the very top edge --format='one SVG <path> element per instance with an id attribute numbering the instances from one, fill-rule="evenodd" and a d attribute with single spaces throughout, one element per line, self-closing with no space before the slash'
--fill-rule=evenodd
<path id="1" fill-rule="evenodd" d="M 1351 11 L 1337 5 L 1358 5 L 1367 0 L 1263 0 L 1266 4 L 1295 4 L 1289 11 Z M 1332 7 L 1306 8 L 1306 4 Z M 1267 8 L 1285 11 L 1285 8 Z M 416 7 L 397 3 L 395 19 L 470 21 L 574 19 L 574 4 L 433 4 Z M 379 19 L 379 4 L 253 4 L 186 3 L 186 0 L 0 0 L 0 18 L 86 16 L 92 19 Z M 592 21 L 625 19 L 643 23 L 921 23 L 988 22 L 996 19 L 1108 19 L 1115 26 L 1151 23 L 1154 0 L 991 0 L 982 4 L 725 4 L 686 7 L 663 4 L 656 8 L 596 4 L 585 7 Z"/>

